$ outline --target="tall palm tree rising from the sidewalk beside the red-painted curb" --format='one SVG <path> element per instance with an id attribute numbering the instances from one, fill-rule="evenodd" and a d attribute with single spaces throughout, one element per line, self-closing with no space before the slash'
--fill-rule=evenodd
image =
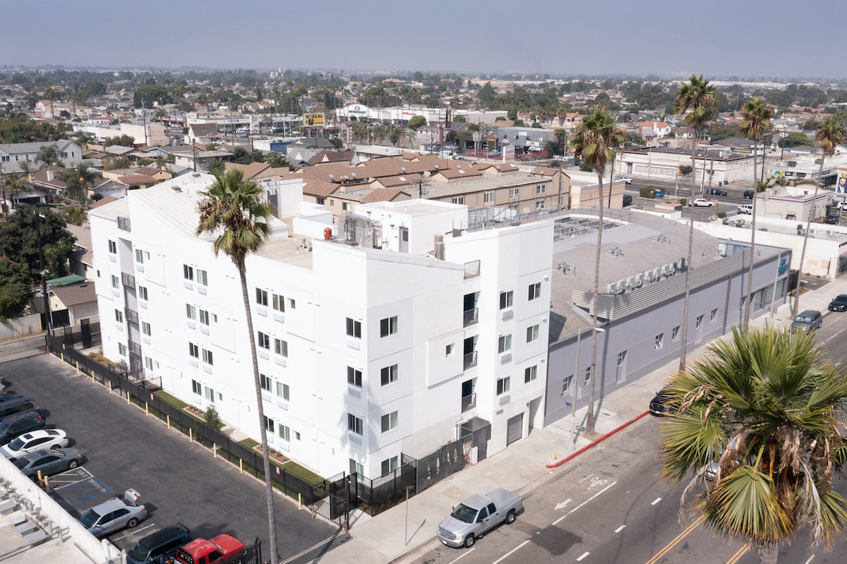
<path id="1" fill-rule="evenodd" d="M 626 135 L 623 130 L 617 129 L 612 113 L 606 109 L 605 104 L 591 108 L 589 114 L 583 119 L 583 123 L 573 130 L 571 147 L 576 155 L 582 155 L 584 163 L 597 173 L 597 247 L 594 262 L 594 301 L 591 306 L 591 317 L 594 319 L 594 327 L 591 330 L 591 372 L 588 395 L 588 418 L 585 420 L 585 434 L 594 434 L 594 388 L 595 372 L 597 368 L 597 294 L 600 291 L 600 257 L 601 243 L 603 241 L 603 174 L 606 172 L 606 164 L 612 164 L 615 153 L 612 147 L 623 143 Z M 612 189 L 611 180 L 609 189 Z M 574 378 L 576 376 L 574 375 Z"/>

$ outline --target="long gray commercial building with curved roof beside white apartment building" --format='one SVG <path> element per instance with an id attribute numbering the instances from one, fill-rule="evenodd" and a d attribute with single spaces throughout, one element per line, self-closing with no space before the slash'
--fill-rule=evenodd
<path id="1" fill-rule="evenodd" d="M 617 211 L 604 226 L 597 305 L 605 329 L 597 343 L 599 403 L 618 386 L 679 357 L 689 267 L 691 351 L 725 335 L 744 317 L 750 265 L 749 243 L 719 240 L 696 229 L 693 260 L 686 264 L 688 225 L 648 213 Z M 588 401 L 596 227 L 596 217 L 587 214 L 556 220 L 545 425 Z M 754 259 L 751 317 L 785 302 L 791 251 L 757 245 Z"/>

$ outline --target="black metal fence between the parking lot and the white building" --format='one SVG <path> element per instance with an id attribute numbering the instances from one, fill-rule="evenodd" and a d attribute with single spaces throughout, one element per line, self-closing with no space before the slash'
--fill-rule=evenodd
<path id="1" fill-rule="evenodd" d="M 226 434 L 213 429 L 205 421 L 179 407 L 169 404 L 159 398 L 152 390 L 147 389 L 147 382 L 139 384 L 132 382 L 127 373 L 119 372 L 119 368 L 109 368 L 90 357 L 75 350 L 73 346 L 65 345 L 62 340 L 46 335 L 47 348 L 64 362 L 77 368 L 81 373 L 95 382 L 108 386 L 109 390 L 126 398 L 128 401 L 141 406 L 150 415 L 154 415 L 167 423 L 169 427 L 188 435 L 201 445 L 212 450 L 216 456 L 221 456 L 239 467 L 241 472 L 249 473 L 261 480 L 265 479 L 263 457 L 260 452 L 231 440 Z M 42 339 L 42 346 L 44 338 Z M 338 495 L 335 484 L 329 488 L 324 480 L 318 484 L 310 484 L 307 480 L 290 473 L 285 468 L 271 464 L 271 483 L 285 495 L 295 497 L 305 506 L 311 506 L 316 515 L 325 517 L 339 526 L 343 526 L 341 517 L 347 511 L 344 497 Z M 336 480 L 337 481 L 337 480 Z M 339 508 L 343 506 L 343 511 Z"/>

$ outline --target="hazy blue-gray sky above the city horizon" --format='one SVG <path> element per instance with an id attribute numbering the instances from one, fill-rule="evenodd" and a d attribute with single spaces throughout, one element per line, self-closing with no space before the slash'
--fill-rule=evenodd
<path id="1" fill-rule="evenodd" d="M 845 0 L 47 0 L 3 20 L 3 65 L 847 78 Z"/>

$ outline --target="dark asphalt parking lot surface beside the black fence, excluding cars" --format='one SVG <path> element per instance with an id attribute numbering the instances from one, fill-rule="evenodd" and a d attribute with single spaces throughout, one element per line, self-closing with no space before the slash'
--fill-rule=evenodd
<path id="1" fill-rule="evenodd" d="M 136 528 L 108 537 L 121 549 L 173 523 L 194 537 L 232 534 L 245 544 L 263 539 L 268 556 L 264 484 L 219 458 L 117 394 L 77 374 L 56 357 L 40 355 L 4 362 L 0 372 L 11 390 L 32 395 L 48 428 L 64 429 L 71 446 L 85 456 L 75 470 L 51 479 L 54 495 L 75 516 L 127 488 L 149 517 Z M 280 556 L 299 554 L 337 533 L 337 526 L 281 495 L 276 500 Z"/>

